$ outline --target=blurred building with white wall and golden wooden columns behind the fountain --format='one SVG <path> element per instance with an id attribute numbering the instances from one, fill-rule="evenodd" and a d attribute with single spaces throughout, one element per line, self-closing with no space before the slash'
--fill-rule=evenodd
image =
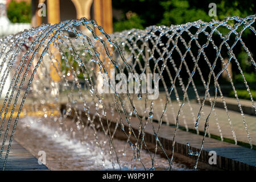
<path id="1" fill-rule="evenodd" d="M 6 7 L 11 1 L 31 3 L 31 23 L 10 22 L 7 18 Z M 42 10 L 45 11 L 43 16 Z M 42 23 L 55 24 L 63 20 L 80 19 L 82 17 L 95 19 L 98 25 L 104 28 L 105 32 L 111 34 L 113 32 L 112 0 L 0 0 L 0 36 L 16 34 Z M 80 29 L 82 28 L 80 27 Z M 1 62 L 2 60 L 0 60 Z M 6 63 L 4 66 L 6 67 Z M 3 90 L 4 93 L 7 92 L 10 85 L 9 77 L 6 80 L 6 85 L 7 87 Z M 2 96 L 4 95 L 2 94 Z"/>

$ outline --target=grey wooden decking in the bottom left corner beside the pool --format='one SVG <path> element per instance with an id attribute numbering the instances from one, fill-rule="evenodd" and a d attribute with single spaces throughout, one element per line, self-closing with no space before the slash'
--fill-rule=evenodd
<path id="1" fill-rule="evenodd" d="M 3 152 L 2 159 L 0 160 L 0 169 L 3 169 L 3 162 L 6 155 L 6 148 L 9 139 L 5 143 L 5 151 Z M 2 144 L 2 140 L 1 140 Z M 31 171 L 31 170 L 49 170 L 44 164 L 38 164 L 38 159 L 35 158 L 25 148 L 20 146 L 15 140 L 11 144 L 11 151 L 7 160 L 5 171 Z"/>

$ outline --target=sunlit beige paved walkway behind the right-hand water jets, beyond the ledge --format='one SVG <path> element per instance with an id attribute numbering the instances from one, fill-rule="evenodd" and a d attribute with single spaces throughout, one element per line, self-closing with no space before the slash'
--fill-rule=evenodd
<path id="1" fill-rule="evenodd" d="M 142 102 L 139 100 L 134 101 L 134 104 L 136 109 L 140 110 L 139 113 L 142 114 L 142 110 L 144 109 L 143 108 L 144 104 L 142 104 Z M 150 104 L 150 102 L 148 102 L 148 104 Z M 154 119 L 160 121 L 160 117 L 164 109 L 164 104 L 165 104 L 164 100 L 154 101 L 154 106 L 153 106 Z M 179 117 L 180 126 L 185 127 L 187 125 L 189 129 L 195 129 L 195 121 L 196 121 L 197 114 L 200 110 L 200 106 L 201 105 L 196 104 L 196 102 L 191 102 L 191 107 L 188 105 L 188 103 L 186 103 L 183 106 L 183 109 L 180 113 L 180 117 Z M 171 105 L 168 105 L 168 109 L 166 114 L 164 115 L 163 121 L 167 123 L 175 124 L 175 118 L 177 116 L 178 110 L 179 110 L 179 104 L 176 101 L 175 102 L 172 101 L 172 107 Z M 241 142 L 249 143 L 249 139 L 247 138 L 245 124 L 243 123 L 241 113 L 238 113 L 237 111 L 229 110 L 228 111 L 228 114 L 230 117 L 230 122 L 229 122 L 228 115 L 225 109 L 215 107 L 214 110 L 216 113 L 214 114 L 214 112 L 212 111 L 212 114 L 210 115 L 210 118 L 209 118 L 210 134 L 214 134 L 217 136 L 220 136 L 222 134 L 224 138 L 234 139 L 232 128 L 230 126 L 230 122 L 231 122 L 234 130 L 234 134 L 236 135 L 237 140 Z M 205 105 L 203 107 L 203 111 L 204 112 L 201 114 L 201 118 L 199 121 L 199 128 L 198 128 L 199 131 L 204 131 L 204 123 L 205 123 L 205 119 L 207 118 L 207 115 L 210 112 L 210 106 Z M 146 113 L 147 115 L 148 115 L 148 112 L 149 111 L 147 111 Z M 256 117 L 253 115 L 245 114 L 244 118 L 247 124 L 247 130 L 250 134 L 251 142 L 253 144 L 256 144 Z"/>

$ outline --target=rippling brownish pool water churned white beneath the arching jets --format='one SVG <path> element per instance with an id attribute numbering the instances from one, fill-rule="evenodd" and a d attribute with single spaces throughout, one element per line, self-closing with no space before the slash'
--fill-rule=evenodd
<path id="1" fill-rule="evenodd" d="M 105 170 L 120 169 L 114 154 L 109 152 L 109 142 L 104 133 L 93 129 L 82 131 L 71 119 L 59 123 L 50 118 L 25 117 L 19 119 L 14 139 L 32 155 L 46 152 L 46 166 L 51 170 Z M 149 169 L 150 155 L 141 151 L 141 160 L 134 159 L 133 150 L 123 140 L 114 139 L 115 151 L 122 170 Z M 126 146 L 126 152 L 124 148 Z M 168 161 L 155 155 L 155 169 L 168 168 Z M 143 165 L 144 167 L 143 167 Z M 173 163 L 174 170 L 189 170 L 187 166 Z"/>

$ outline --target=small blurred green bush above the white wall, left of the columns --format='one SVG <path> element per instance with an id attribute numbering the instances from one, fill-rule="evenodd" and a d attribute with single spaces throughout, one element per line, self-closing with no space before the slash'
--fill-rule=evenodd
<path id="1" fill-rule="evenodd" d="M 30 23 L 31 4 L 24 1 L 11 1 L 7 9 L 7 16 L 12 23 Z"/>

